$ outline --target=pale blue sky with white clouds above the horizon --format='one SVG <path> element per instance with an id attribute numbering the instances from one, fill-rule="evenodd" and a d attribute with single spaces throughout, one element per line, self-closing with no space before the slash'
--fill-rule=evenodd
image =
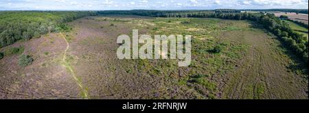
<path id="1" fill-rule="evenodd" d="M 210 10 L 297 8 L 308 0 L 0 0 L 0 10 Z"/>

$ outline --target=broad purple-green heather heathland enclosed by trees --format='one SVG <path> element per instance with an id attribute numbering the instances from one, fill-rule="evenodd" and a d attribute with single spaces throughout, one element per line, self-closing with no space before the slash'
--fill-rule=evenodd
<path id="1" fill-rule="evenodd" d="M 293 55 L 250 21 L 113 15 L 69 25 L 73 30 L 63 35 L 0 49 L 23 47 L 34 58 L 25 68 L 18 54 L 0 60 L 1 99 L 308 99 L 308 73 L 296 70 Z M 119 60 L 117 36 L 132 29 L 194 36 L 192 64 Z"/>

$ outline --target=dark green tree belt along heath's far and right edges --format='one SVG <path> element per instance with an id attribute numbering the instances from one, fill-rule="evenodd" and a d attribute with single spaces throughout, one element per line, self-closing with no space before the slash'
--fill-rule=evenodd
<path id="1" fill-rule="evenodd" d="M 131 10 L 131 11 L 101 11 L 99 14 L 134 14 L 139 16 L 176 17 L 176 18 L 224 18 L 232 20 L 249 20 L 263 25 L 269 32 L 279 37 L 285 47 L 294 51 L 299 58 L 308 64 L 308 39 L 290 28 L 288 23 L 281 21 L 274 14 L 237 12 L 235 10 Z"/>

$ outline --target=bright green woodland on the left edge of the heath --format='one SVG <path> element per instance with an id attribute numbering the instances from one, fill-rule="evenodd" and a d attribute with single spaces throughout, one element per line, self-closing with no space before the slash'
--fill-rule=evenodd
<path id="1" fill-rule="evenodd" d="M 65 23 L 90 15 L 96 12 L 0 12 L 0 47 L 56 32 L 65 27 Z"/>

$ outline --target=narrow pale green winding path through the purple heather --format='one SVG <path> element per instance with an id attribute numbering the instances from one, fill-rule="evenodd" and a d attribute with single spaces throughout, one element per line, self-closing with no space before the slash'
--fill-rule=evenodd
<path id="1" fill-rule="evenodd" d="M 63 66 L 65 66 L 65 68 L 67 68 L 72 77 L 76 80 L 76 83 L 78 84 L 78 86 L 81 89 L 81 95 L 84 99 L 89 99 L 88 97 L 88 91 L 84 88 L 84 86 L 82 85 L 82 81 L 80 79 L 78 79 L 78 77 L 76 76 L 76 74 L 73 71 L 73 68 L 71 67 L 71 65 L 69 64 L 69 62 L 67 61 L 67 51 L 69 50 L 69 42 L 67 41 L 67 39 L 65 38 L 65 36 L 63 36 L 63 34 L 60 32 L 61 37 L 65 40 L 65 42 L 67 43 L 67 48 L 65 49 L 65 54 L 63 55 L 62 58 L 62 62 L 63 62 Z"/>

